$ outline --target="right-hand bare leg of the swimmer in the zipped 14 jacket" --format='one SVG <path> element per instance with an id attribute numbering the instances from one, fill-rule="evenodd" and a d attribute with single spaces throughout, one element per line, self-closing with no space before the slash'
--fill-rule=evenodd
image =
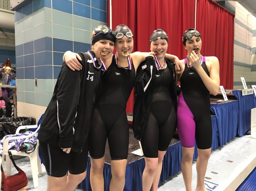
<path id="1" fill-rule="evenodd" d="M 66 186 L 64 187 L 64 191 L 74 191 L 79 183 L 81 183 L 86 177 L 86 171 L 81 174 L 73 175 L 68 172 Z"/>

